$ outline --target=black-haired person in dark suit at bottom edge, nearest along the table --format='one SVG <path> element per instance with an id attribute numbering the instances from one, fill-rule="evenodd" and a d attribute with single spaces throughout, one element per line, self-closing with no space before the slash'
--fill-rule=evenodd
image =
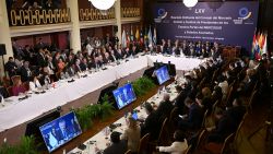
<path id="1" fill-rule="evenodd" d="M 114 131 L 110 135 L 111 145 L 104 150 L 104 154 L 124 154 L 127 152 L 127 143 L 120 141 L 120 133 Z"/>

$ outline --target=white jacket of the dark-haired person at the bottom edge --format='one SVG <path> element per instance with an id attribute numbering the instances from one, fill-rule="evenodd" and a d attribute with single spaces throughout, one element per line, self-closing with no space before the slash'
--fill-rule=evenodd
<path id="1" fill-rule="evenodd" d="M 170 154 L 183 154 L 188 149 L 187 140 L 183 142 L 174 142 L 170 146 L 159 146 L 159 152 L 167 152 Z"/>

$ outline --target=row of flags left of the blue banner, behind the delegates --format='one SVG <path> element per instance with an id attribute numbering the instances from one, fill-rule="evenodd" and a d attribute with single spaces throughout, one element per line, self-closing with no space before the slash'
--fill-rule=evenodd
<path id="1" fill-rule="evenodd" d="M 150 26 L 149 31 L 145 28 L 145 32 L 143 29 L 139 29 L 136 27 L 135 33 L 133 32 L 133 28 L 131 26 L 130 34 L 126 29 L 122 31 L 121 36 L 121 46 L 123 48 L 129 47 L 131 43 L 139 43 L 145 45 L 145 47 L 150 47 L 153 44 L 156 45 L 157 36 L 156 36 L 156 28 L 154 27 L 154 31 L 152 33 L 152 27 Z"/>

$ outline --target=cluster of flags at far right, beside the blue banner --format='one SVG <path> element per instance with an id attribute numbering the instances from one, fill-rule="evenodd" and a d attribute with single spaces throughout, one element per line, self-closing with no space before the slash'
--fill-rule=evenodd
<path id="1" fill-rule="evenodd" d="M 268 33 L 258 32 L 253 36 L 251 57 L 259 60 L 263 54 L 268 54 Z"/>

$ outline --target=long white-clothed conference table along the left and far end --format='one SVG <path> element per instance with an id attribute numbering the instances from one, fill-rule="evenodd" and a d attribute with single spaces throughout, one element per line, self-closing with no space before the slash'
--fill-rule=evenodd
<path id="1" fill-rule="evenodd" d="M 138 58 L 129 58 L 118 66 L 106 66 L 107 70 L 93 71 L 86 78 L 73 78 L 75 81 L 71 83 L 68 83 L 71 79 L 59 81 L 55 88 L 50 87 L 44 94 L 28 93 L 29 97 L 24 100 L 19 100 L 22 96 L 9 97 L 5 99 L 4 106 L 0 105 L 0 132 L 81 98 L 116 80 L 152 67 L 155 61 L 164 63 L 170 61 L 176 64 L 176 70 L 191 70 L 202 62 L 202 60 L 194 58 L 139 55 Z"/>

